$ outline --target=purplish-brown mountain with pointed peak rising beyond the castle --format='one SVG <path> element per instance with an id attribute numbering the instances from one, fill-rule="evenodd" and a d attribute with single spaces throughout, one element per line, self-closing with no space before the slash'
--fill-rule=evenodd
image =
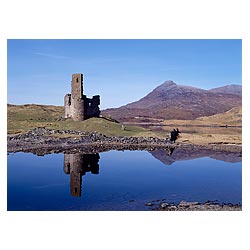
<path id="1" fill-rule="evenodd" d="M 239 87 L 229 85 L 204 90 L 166 81 L 140 100 L 120 108 L 106 109 L 102 114 L 119 121 L 143 121 L 147 118 L 196 119 L 241 106 Z"/>

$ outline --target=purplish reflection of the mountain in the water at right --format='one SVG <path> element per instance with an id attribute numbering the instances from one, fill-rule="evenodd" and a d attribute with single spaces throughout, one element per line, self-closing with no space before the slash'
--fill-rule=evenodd
<path id="1" fill-rule="evenodd" d="M 210 157 L 215 160 L 236 163 L 242 161 L 241 153 L 216 152 L 211 150 L 187 150 L 176 148 L 169 154 L 169 150 L 156 150 L 150 152 L 153 157 L 165 165 L 171 165 L 176 161 L 193 160 L 202 157 Z"/>

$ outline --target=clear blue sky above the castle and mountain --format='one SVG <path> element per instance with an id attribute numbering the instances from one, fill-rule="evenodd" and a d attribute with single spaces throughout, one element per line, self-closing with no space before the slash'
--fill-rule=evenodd
<path id="1" fill-rule="evenodd" d="M 203 89 L 242 83 L 241 40 L 8 40 L 8 103 L 63 105 L 73 73 L 101 109 L 166 80 Z"/>

